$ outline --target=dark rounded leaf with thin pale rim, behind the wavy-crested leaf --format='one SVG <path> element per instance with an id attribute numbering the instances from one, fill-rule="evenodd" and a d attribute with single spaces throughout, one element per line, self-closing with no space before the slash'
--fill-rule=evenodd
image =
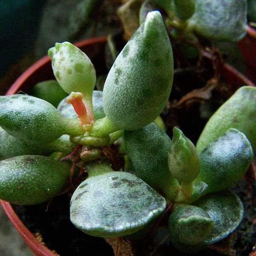
<path id="1" fill-rule="evenodd" d="M 212 232 L 204 244 L 213 244 L 226 238 L 240 224 L 244 207 L 239 197 L 230 191 L 211 193 L 194 203 L 213 219 Z"/>

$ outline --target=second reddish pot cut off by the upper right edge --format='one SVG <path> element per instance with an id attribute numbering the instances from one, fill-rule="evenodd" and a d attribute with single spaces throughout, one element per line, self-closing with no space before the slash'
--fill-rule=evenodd
<path id="1" fill-rule="evenodd" d="M 246 76 L 256 83 L 256 30 L 247 25 L 246 32 L 237 45 L 245 60 Z"/>

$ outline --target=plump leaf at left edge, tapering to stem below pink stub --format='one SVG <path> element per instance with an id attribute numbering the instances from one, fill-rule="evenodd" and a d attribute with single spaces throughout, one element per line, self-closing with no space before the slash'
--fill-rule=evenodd
<path id="1" fill-rule="evenodd" d="M 28 144 L 84 133 L 78 120 L 61 117 L 49 102 L 23 94 L 0 96 L 0 126 Z"/>

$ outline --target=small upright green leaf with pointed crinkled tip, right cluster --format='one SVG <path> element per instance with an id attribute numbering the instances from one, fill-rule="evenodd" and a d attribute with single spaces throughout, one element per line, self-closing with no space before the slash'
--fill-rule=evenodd
<path id="1" fill-rule="evenodd" d="M 180 183 L 191 183 L 200 170 L 200 160 L 195 145 L 177 127 L 173 128 L 168 165 L 171 174 Z"/>

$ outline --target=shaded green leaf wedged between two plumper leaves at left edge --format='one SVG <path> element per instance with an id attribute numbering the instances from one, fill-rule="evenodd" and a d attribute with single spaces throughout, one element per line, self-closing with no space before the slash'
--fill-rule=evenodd
<path id="1" fill-rule="evenodd" d="M 0 160 L 25 154 L 49 155 L 55 151 L 69 154 L 75 147 L 76 145 L 70 142 L 68 135 L 62 135 L 49 144 L 26 144 L 0 127 Z"/>

